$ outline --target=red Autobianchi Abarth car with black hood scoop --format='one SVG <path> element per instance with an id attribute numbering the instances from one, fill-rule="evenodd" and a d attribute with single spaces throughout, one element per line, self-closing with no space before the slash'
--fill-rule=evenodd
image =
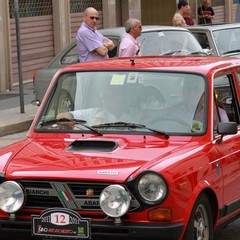
<path id="1" fill-rule="evenodd" d="M 68 66 L 0 151 L 2 239 L 212 240 L 240 214 L 240 60 Z"/>

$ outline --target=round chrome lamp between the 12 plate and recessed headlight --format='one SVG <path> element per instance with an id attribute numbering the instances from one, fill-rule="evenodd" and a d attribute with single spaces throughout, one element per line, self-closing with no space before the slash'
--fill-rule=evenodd
<path id="1" fill-rule="evenodd" d="M 100 194 L 100 207 L 110 217 L 121 217 L 129 209 L 130 194 L 120 185 L 111 185 Z"/>

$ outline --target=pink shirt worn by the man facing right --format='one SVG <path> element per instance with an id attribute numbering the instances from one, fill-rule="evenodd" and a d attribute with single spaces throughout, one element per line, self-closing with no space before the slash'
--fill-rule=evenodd
<path id="1" fill-rule="evenodd" d="M 129 33 L 123 37 L 120 48 L 119 57 L 133 57 L 140 55 L 140 43 Z"/>

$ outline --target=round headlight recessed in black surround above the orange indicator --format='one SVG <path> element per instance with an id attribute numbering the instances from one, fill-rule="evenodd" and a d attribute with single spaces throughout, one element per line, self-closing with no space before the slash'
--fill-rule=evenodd
<path id="1" fill-rule="evenodd" d="M 138 192 L 144 201 L 155 204 L 166 197 L 167 184 L 157 173 L 148 172 L 139 179 Z"/>

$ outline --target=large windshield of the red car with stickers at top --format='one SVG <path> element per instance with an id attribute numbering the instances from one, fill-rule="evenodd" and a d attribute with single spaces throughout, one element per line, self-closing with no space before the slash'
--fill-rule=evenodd
<path id="1" fill-rule="evenodd" d="M 158 71 L 69 72 L 36 131 L 196 135 L 205 131 L 203 76 Z"/>

